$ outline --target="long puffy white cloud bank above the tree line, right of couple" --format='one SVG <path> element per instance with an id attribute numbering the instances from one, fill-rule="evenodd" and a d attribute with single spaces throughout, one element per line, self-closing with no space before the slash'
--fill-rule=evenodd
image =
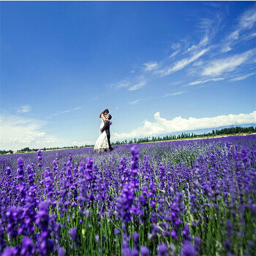
<path id="1" fill-rule="evenodd" d="M 146 120 L 144 121 L 143 127 L 133 129 L 132 132 L 114 132 L 112 140 L 144 138 L 146 136 L 161 135 L 171 132 L 183 132 L 188 130 L 215 128 L 238 124 L 252 124 L 256 123 L 256 111 L 249 114 L 240 113 L 237 115 L 230 114 L 204 118 L 182 118 L 181 116 L 178 116 L 171 120 L 162 118 L 160 116 L 160 112 L 157 112 L 154 114 L 154 118 L 154 122 Z"/>

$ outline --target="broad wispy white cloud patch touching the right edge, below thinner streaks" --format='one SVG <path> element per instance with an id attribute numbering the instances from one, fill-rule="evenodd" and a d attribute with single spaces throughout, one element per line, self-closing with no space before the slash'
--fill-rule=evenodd
<path id="1" fill-rule="evenodd" d="M 216 76 L 224 72 L 233 71 L 236 67 L 249 60 L 254 53 L 254 50 L 248 50 L 245 53 L 236 54 L 226 59 L 215 59 L 203 69 L 202 75 Z"/>

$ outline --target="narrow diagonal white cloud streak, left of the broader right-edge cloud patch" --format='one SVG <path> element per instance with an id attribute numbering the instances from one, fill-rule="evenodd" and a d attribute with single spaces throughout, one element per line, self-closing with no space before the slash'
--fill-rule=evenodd
<path id="1" fill-rule="evenodd" d="M 199 53 L 195 53 L 189 59 L 182 59 L 181 61 L 177 61 L 177 62 L 175 62 L 173 67 L 159 70 L 159 71 L 157 71 L 157 73 L 159 73 L 161 76 L 170 75 L 171 73 L 176 72 L 180 69 L 183 69 L 184 67 L 186 67 L 187 65 L 189 65 L 190 63 L 195 61 L 196 59 L 200 58 L 200 56 L 203 56 L 203 54 L 206 53 L 207 51 L 208 51 L 208 48 L 200 50 Z"/>

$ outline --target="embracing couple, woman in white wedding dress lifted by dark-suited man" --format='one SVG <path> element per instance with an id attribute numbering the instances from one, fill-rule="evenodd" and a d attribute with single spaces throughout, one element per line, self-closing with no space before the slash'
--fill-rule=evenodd
<path id="1" fill-rule="evenodd" d="M 110 144 L 110 120 L 112 116 L 109 114 L 108 109 L 105 109 L 102 111 L 102 113 L 99 115 L 99 118 L 101 118 L 102 123 L 99 127 L 99 138 L 97 139 L 94 151 L 97 151 L 97 153 L 102 151 L 113 151 L 113 148 Z M 108 115 L 108 116 L 107 116 Z"/>

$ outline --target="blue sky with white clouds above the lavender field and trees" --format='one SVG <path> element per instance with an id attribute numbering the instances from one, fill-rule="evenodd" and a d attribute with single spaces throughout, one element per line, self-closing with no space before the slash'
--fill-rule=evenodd
<path id="1" fill-rule="evenodd" d="M 255 1 L 1 1 L 1 148 L 256 122 Z"/>

